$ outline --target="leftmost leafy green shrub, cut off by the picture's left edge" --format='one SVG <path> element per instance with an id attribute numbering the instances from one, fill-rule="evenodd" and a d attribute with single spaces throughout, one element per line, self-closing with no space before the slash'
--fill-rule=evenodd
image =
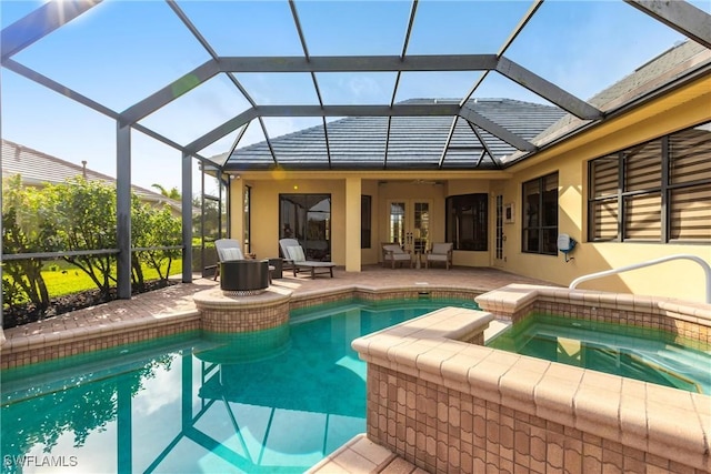
<path id="1" fill-rule="evenodd" d="M 2 253 L 39 253 L 47 250 L 47 226 L 38 212 L 38 193 L 24 189 L 18 174 L 3 183 Z M 42 259 L 9 260 L 2 263 L 2 291 L 8 304 L 26 296 L 40 312 L 49 307 L 49 292 L 42 278 Z"/>

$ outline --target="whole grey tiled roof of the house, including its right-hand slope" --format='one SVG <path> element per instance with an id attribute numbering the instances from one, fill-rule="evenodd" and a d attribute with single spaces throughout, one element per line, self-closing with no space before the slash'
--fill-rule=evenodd
<path id="1" fill-rule="evenodd" d="M 684 41 L 595 94 L 589 103 L 611 114 L 658 93 L 687 74 L 708 70 L 709 64 L 711 50 Z M 459 101 L 414 99 L 401 103 L 432 102 Z M 389 131 L 387 117 L 349 117 L 327 123 L 328 143 L 323 125 L 312 127 L 271 139 L 273 155 L 267 141 L 239 148 L 227 160 L 224 169 L 270 170 L 277 164 L 290 170 L 500 169 L 594 124 L 557 107 L 511 99 L 470 100 L 464 108 L 529 141 L 537 150 L 517 150 L 462 118 L 458 119 L 448 145 L 451 117 L 393 117 Z M 223 161 L 224 155 L 221 158 Z"/>

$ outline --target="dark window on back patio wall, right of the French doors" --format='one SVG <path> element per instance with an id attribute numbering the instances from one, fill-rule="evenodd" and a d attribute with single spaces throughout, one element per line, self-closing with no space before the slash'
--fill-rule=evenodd
<path id="1" fill-rule="evenodd" d="M 487 251 L 489 194 L 462 194 L 447 198 L 447 242 L 454 250 Z"/>

